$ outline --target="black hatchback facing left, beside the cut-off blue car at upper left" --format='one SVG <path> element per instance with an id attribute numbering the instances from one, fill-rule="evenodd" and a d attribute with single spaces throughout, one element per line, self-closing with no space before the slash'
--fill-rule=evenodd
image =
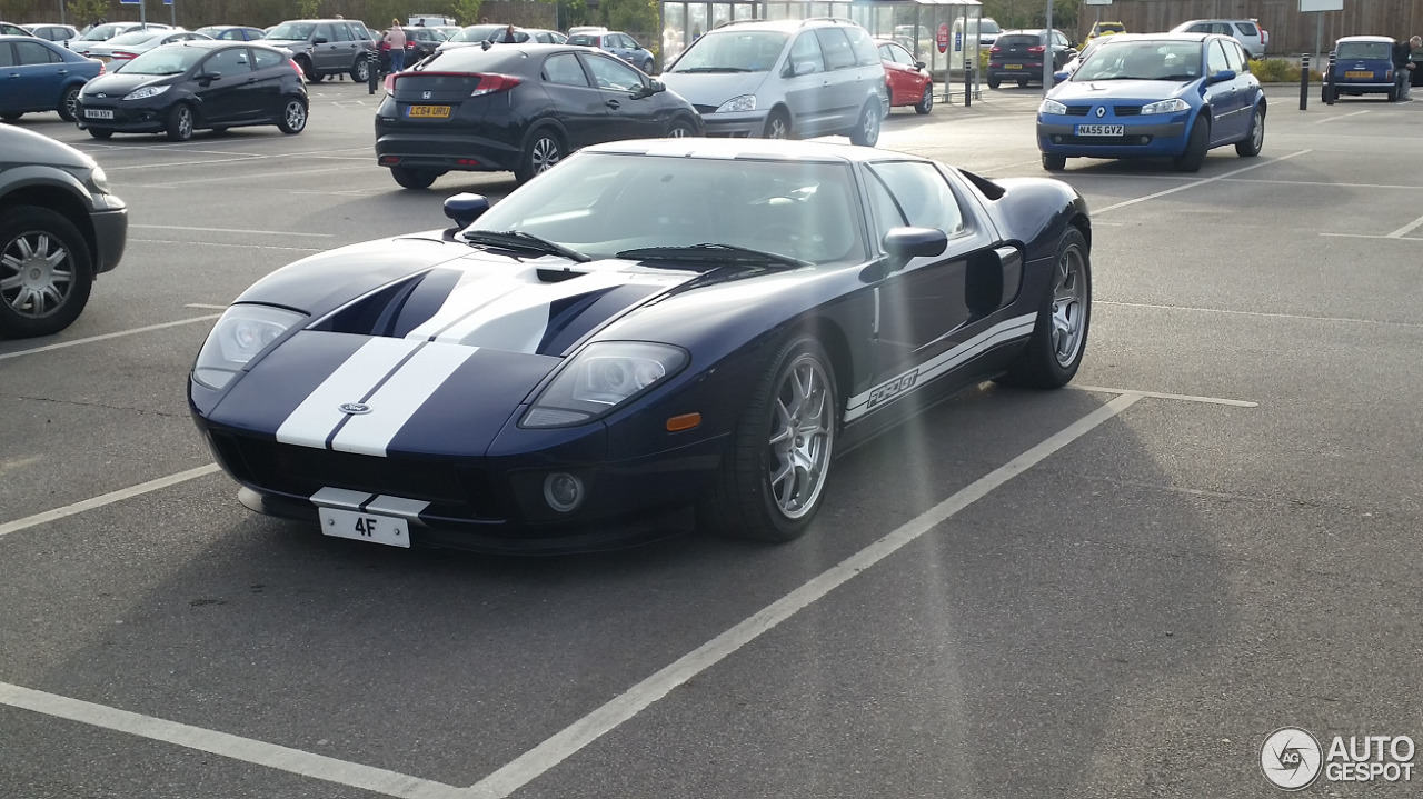
<path id="1" fill-rule="evenodd" d="M 302 71 L 285 50 L 195 40 L 149 50 L 122 71 L 90 81 L 75 114 L 97 139 L 164 132 L 169 141 L 188 141 L 199 128 L 243 125 L 300 134 L 307 108 Z"/>

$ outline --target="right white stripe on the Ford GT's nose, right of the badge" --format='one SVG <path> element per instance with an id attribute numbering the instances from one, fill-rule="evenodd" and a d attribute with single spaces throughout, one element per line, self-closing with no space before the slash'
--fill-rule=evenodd
<path id="1" fill-rule="evenodd" d="M 332 449 L 384 458 L 386 448 L 400 428 L 477 350 L 458 344 L 421 347 L 370 400 L 364 400 L 370 412 L 350 417 L 332 439 Z M 353 400 L 347 400 L 350 401 Z"/>

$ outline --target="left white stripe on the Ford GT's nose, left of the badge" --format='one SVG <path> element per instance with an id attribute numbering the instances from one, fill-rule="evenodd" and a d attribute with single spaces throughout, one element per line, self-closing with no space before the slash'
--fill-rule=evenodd
<path id="1" fill-rule="evenodd" d="M 349 418 L 342 404 L 364 401 L 381 378 L 421 344 L 408 338 L 371 338 L 292 411 L 277 428 L 276 439 L 324 449 L 326 438 Z"/>

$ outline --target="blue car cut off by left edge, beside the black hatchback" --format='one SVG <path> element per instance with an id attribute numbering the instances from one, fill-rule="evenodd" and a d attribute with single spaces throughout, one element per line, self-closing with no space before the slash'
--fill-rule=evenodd
<path id="1" fill-rule="evenodd" d="M 102 61 L 34 36 L 0 36 L 0 119 L 7 122 L 43 111 L 73 122 L 80 90 L 104 74 Z"/>

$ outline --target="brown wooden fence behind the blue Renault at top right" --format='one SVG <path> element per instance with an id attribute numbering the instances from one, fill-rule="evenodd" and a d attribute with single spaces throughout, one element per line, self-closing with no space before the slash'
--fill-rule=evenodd
<path id="1" fill-rule="evenodd" d="M 1299 0 L 1114 0 L 1111 6 L 1081 6 L 1077 40 L 1086 38 L 1097 20 L 1121 21 L 1133 33 L 1155 33 L 1204 18 L 1257 18 L 1269 31 L 1266 55 L 1299 55 L 1328 53 L 1340 36 L 1423 36 L 1423 0 L 1345 0 L 1342 11 L 1312 13 L 1301 13 Z"/>

